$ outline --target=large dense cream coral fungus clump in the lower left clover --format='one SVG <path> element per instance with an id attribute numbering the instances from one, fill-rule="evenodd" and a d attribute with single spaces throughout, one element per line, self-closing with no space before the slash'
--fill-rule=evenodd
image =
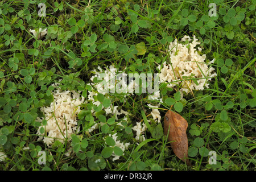
<path id="1" fill-rule="evenodd" d="M 56 84 L 53 84 L 56 86 Z M 61 92 L 60 89 L 53 91 L 54 102 L 48 107 L 42 107 L 40 110 L 44 113 L 44 118 L 36 118 L 36 121 L 42 122 L 47 120 L 46 126 L 40 126 L 37 134 L 40 133 L 41 127 L 44 127 L 45 134 L 38 140 L 44 141 L 48 147 L 51 147 L 55 139 L 64 142 L 66 138 L 71 138 L 71 134 L 79 131 L 77 129 L 77 114 L 80 112 L 80 105 L 84 102 L 84 97 L 75 91 Z"/>

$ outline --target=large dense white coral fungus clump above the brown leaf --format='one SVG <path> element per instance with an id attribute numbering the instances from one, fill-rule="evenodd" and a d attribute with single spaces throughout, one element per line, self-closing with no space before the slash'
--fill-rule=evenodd
<path id="1" fill-rule="evenodd" d="M 168 82 L 169 88 L 175 85 L 181 85 L 180 91 L 185 93 L 192 92 L 192 90 L 203 90 L 204 87 L 208 88 L 212 77 L 216 76 L 213 73 L 214 68 L 208 67 L 205 63 L 206 55 L 200 55 L 201 48 L 196 48 L 200 43 L 197 42 L 195 35 L 191 42 L 189 36 L 184 36 L 181 42 L 178 43 L 177 39 L 170 43 L 168 52 L 170 53 L 171 64 L 163 63 L 163 68 L 160 70 L 160 82 Z M 198 52 L 198 51 L 199 52 Z M 212 64 L 209 61 L 209 64 Z"/>

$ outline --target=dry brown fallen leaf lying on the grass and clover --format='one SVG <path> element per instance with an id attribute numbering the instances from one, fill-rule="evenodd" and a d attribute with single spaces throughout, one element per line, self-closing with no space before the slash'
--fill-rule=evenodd
<path id="1" fill-rule="evenodd" d="M 168 134 L 168 141 L 171 142 L 174 154 L 183 162 L 191 165 L 188 158 L 188 137 L 187 130 L 188 122 L 181 117 L 181 115 L 174 113 L 174 111 L 167 111 L 164 116 L 164 135 Z M 186 158 L 186 159 L 185 159 Z M 185 159 L 185 160 L 184 160 Z"/>

